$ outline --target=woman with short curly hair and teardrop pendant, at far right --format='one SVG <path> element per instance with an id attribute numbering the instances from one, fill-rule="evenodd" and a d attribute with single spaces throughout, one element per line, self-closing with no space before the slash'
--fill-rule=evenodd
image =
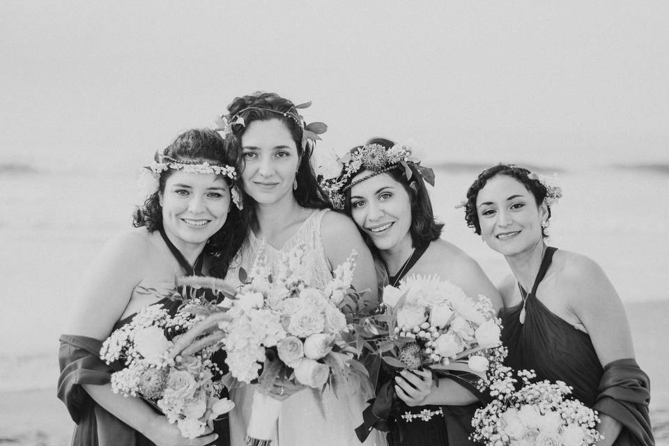
<path id="1" fill-rule="evenodd" d="M 653 445 L 649 380 L 634 360 L 620 298 L 597 263 L 544 241 L 561 196 L 509 164 L 482 171 L 467 192 L 468 226 L 513 272 L 500 285 L 507 365 L 573 387 L 576 399 L 599 411 L 598 445 Z"/>

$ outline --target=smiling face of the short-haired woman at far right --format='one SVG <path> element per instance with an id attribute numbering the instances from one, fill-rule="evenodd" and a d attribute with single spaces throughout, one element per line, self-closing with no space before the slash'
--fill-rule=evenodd
<path id="1" fill-rule="evenodd" d="M 537 206 L 534 195 L 515 178 L 490 178 L 479 190 L 476 209 L 481 235 L 500 254 L 521 254 L 543 243 L 541 222 L 548 216 L 546 204 Z"/>

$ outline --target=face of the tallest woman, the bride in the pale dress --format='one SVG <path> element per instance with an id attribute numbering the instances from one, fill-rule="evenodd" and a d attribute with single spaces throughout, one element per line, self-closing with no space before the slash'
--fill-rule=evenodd
<path id="1" fill-rule="evenodd" d="M 242 135 L 244 190 L 260 204 L 293 199 L 300 155 L 288 128 L 278 119 L 253 121 Z"/>

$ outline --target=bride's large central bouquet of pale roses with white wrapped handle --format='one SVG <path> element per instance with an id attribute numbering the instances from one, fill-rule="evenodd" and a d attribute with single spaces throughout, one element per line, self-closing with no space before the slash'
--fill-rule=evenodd
<path id="1" fill-rule="evenodd" d="M 282 254 L 274 274 L 266 266 L 263 248 L 229 306 L 231 321 L 220 324 L 226 332 L 224 348 L 235 380 L 259 383 L 254 394 L 249 438 L 270 440 L 281 402 L 268 394 L 279 377 L 294 380 L 314 391 L 330 385 L 335 394 L 351 392 L 367 382 L 367 371 L 354 360 L 349 345 L 346 309 L 357 307 L 351 289 L 355 252 L 334 270 L 323 289 L 308 286 L 309 268 L 302 246 Z M 242 272 L 244 276 L 246 273 Z M 343 311 L 344 310 L 344 311 Z M 371 387 L 368 385 L 369 390 Z"/>

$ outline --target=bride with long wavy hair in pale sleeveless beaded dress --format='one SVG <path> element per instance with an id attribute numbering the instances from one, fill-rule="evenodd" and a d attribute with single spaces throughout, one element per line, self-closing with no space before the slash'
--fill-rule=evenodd
<path id="1" fill-rule="evenodd" d="M 301 108 L 298 106 L 298 108 Z M 311 265 L 311 285 L 323 286 L 332 278 L 334 266 L 357 251 L 353 286 L 370 290 L 367 299 L 376 306 L 374 263 L 355 225 L 348 217 L 329 212 L 310 164 L 316 132 L 325 125 L 305 126 L 293 102 L 275 93 L 255 93 L 236 98 L 228 107 L 231 146 L 237 146 L 243 186 L 243 217 L 248 224 L 245 244 L 233 261 L 229 277 L 252 266 L 261 240 L 265 240 L 268 264 L 279 252 L 305 245 Z M 231 439 L 245 445 L 253 385 L 233 390 L 236 407 L 231 412 Z M 318 397 L 302 385 L 279 380 L 272 397 L 283 400 L 277 438 L 272 445 L 357 445 L 355 426 L 362 422 L 364 395 L 351 389 L 351 396 L 337 399 L 328 387 Z M 371 438 L 365 444 L 379 444 Z"/>

